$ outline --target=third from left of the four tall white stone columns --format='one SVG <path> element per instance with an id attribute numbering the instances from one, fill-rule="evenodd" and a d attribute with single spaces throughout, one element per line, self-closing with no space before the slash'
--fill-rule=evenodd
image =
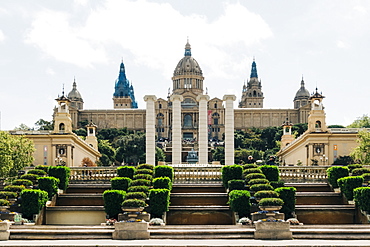
<path id="1" fill-rule="evenodd" d="M 199 164 L 208 164 L 208 121 L 207 121 L 207 102 L 208 95 L 198 95 L 199 102 L 199 129 L 198 129 L 198 146 L 199 146 Z"/>

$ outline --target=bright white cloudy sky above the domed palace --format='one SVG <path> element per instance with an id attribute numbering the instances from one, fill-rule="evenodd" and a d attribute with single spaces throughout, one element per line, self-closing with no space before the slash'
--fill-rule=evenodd
<path id="1" fill-rule="evenodd" d="M 369 114 L 370 1 L 1 0 L 0 130 L 51 121 L 74 80 L 84 109 L 113 109 L 121 61 L 145 109 L 187 39 L 211 98 L 237 107 L 254 58 L 266 109 L 293 108 L 303 76 L 328 125 Z"/>

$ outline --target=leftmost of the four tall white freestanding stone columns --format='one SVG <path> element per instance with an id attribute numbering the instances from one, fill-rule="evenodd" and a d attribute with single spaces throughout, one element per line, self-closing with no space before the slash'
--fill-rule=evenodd
<path id="1" fill-rule="evenodd" d="M 154 95 L 145 95 L 146 102 L 146 163 L 155 165 L 155 108 L 154 103 L 157 98 Z"/>

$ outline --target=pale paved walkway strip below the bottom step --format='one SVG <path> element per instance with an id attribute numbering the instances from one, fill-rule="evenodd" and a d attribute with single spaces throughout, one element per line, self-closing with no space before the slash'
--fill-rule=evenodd
<path id="1" fill-rule="evenodd" d="M 132 247 L 208 247 L 208 246 L 290 246 L 290 247 L 347 247 L 347 246 L 369 246 L 369 240 L 173 240 L 173 239 L 152 239 L 152 240 L 30 240 L 1 241 L 2 246 L 68 246 L 68 247 L 113 247 L 113 246 L 132 246 Z"/>

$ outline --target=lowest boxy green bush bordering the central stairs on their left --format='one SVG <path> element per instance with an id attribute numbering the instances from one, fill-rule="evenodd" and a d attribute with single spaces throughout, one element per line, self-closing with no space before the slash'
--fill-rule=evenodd
<path id="1" fill-rule="evenodd" d="M 150 214 L 154 218 L 161 218 L 170 206 L 170 191 L 168 189 L 151 189 L 149 191 Z"/>

